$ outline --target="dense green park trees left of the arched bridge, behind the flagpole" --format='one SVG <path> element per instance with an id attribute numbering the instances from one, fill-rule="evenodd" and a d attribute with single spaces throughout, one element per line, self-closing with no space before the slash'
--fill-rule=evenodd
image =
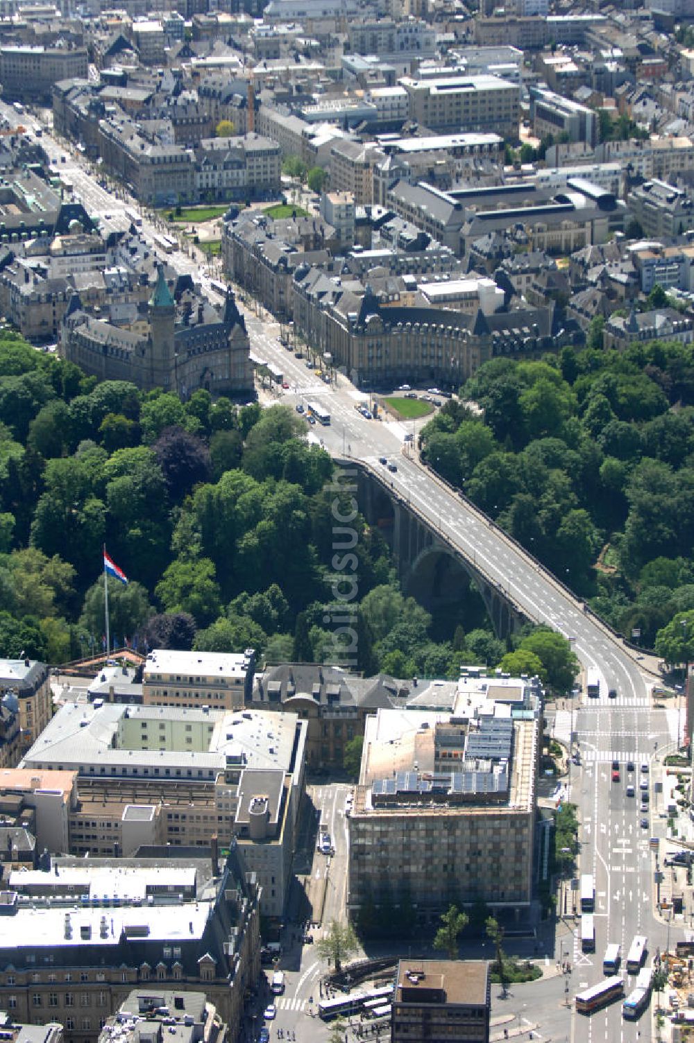
<path id="1" fill-rule="evenodd" d="M 105 543 L 129 581 L 109 580 L 117 646 L 254 647 L 269 662 L 334 661 L 325 624 L 333 464 L 305 431 L 284 406 L 239 407 L 204 390 L 183 403 L 97 383 L 5 332 L 0 656 L 100 654 Z M 516 656 L 548 683 L 571 682 L 575 662 L 558 635 L 527 627 L 499 641 L 476 592 L 454 617 L 432 616 L 400 588 L 379 530 L 361 516 L 355 526 L 359 670 L 456 677 L 461 662 Z M 348 770 L 359 752 L 349 752 Z"/>

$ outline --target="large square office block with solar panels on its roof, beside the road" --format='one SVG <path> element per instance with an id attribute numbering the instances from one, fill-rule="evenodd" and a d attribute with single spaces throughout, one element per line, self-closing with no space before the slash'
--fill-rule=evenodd
<path id="1" fill-rule="evenodd" d="M 452 902 L 529 908 L 541 699 L 528 689 L 461 680 L 452 713 L 367 719 L 349 827 L 352 918 L 384 902 L 422 922 Z"/>

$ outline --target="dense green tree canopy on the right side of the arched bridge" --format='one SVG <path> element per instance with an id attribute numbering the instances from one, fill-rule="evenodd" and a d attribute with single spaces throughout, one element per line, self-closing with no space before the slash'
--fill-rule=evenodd
<path id="1" fill-rule="evenodd" d="M 580 350 L 487 362 L 424 428 L 422 453 L 652 648 L 692 605 L 694 347 L 603 350 L 602 330 L 596 318 Z"/>

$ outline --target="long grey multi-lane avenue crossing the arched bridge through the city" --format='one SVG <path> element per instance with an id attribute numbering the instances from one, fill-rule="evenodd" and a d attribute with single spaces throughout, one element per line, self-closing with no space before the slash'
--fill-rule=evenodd
<path id="1" fill-rule="evenodd" d="M 0 115 L 13 125 L 20 122 L 11 106 L 2 101 Z M 26 117 L 23 122 L 27 122 Z M 73 150 L 66 152 L 48 127 L 44 127 L 44 145 L 54 164 L 59 163 L 62 170 L 73 179 L 75 195 L 83 198 L 88 211 L 98 214 L 105 226 L 111 222 L 120 223 L 124 208 L 135 201 L 125 193 L 116 199 L 101 189 L 90 175 L 89 164 Z M 145 216 L 142 232 L 150 244 L 157 231 Z M 190 248 L 188 256 L 176 252 L 167 257 L 166 261 L 178 272 L 193 274 L 211 299 L 219 299 L 210 285 L 206 261 L 194 248 Z M 652 675 L 648 673 L 646 663 L 638 660 L 623 641 L 583 610 L 582 602 L 483 514 L 436 480 L 412 456 L 405 455 L 405 435 L 411 433 L 416 438 L 423 421 L 365 420 L 355 409 L 355 405 L 368 402 L 365 394 L 356 391 L 341 377 L 332 387 L 327 387 L 313 370 L 307 368 L 305 360 L 296 360 L 291 351 L 280 346 L 277 339 L 279 325 L 271 317 L 258 317 L 250 311 L 246 311 L 245 317 L 254 353 L 273 362 L 286 374 L 289 388 L 282 391 L 279 397 L 292 407 L 300 402 L 306 405 L 308 401 L 316 399 L 330 411 L 331 426 L 312 428 L 309 439 L 322 441 L 336 460 L 346 463 L 350 459 L 359 460 L 362 466 L 380 476 L 386 484 L 391 483 L 391 494 L 399 496 L 436 532 L 442 543 L 466 557 L 473 567 L 490 584 L 496 584 L 528 618 L 547 623 L 572 638 L 583 665 L 601 674 L 605 685 L 601 698 L 583 699 L 582 705 L 579 702 L 576 707 L 574 727 L 584 757 L 581 758 L 581 768 L 574 769 L 574 781 L 568 792 L 579 805 L 579 872 L 592 871 L 596 879 L 597 945 L 595 953 L 581 953 L 576 925 L 568 922 L 564 926 L 568 933 L 561 941 L 561 957 L 568 957 L 573 969 L 570 994 L 601 979 L 602 953 L 609 941 L 619 941 L 624 953 L 633 935 L 643 931 L 648 935 L 652 956 L 656 946 L 664 947 L 666 941 L 665 925 L 651 912 L 654 862 L 647 840 L 651 832 L 663 832 L 657 814 L 661 808 L 655 803 L 659 798 L 651 793 L 649 829 L 640 828 L 638 801 L 625 797 L 626 759 L 633 760 L 637 774 L 642 760 L 649 760 L 651 769 L 654 769 L 654 758 L 660 756 L 664 746 L 672 744 L 678 727 L 674 710 L 666 711 L 652 705 L 648 693 Z M 386 470 L 379 462 L 382 456 L 397 464 L 397 471 Z M 571 582 L 570 572 L 566 579 Z M 618 689 L 617 700 L 607 699 L 607 687 Z M 557 711 L 557 718 L 561 713 L 565 718 L 569 717 L 566 711 Z M 573 712 L 571 715 L 573 721 Z M 567 722 L 564 728 L 568 738 Z M 560 731 L 557 729 L 557 733 Z M 659 753 L 655 753 L 656 744 Z M 621 761 L 622 780 L 619 785 L 609 781 L 609 760 L 614 757 L 619 757 Z M 633 775 L 630 778 L 633 779 Z M 556 950 L 550 959 L 553 957 L 559 959 L 558 937 Z M 630 981 L 626 974 L 624 977 L 628 992 Z M 532 996 L 535 994 L 532 993 Z M 553 1038 L 564 1038 L 566 1034 L 572 1043 L 602 1043 L 604 1040 L 620 1043 L 636 1043 L 639 1040 L 645 1043 L 651 1038 L 649 1015 L 645 1014 L 639 1023 L 630 1024 L 621 1019 L 618 1004 L 590 1019 L 576 1016 L 569 1010 L 566 1015 L 566 1020 L 559 1017 L 561 1030 Z M 542 1010 L 537 1011 L 537 1016 L 541 1020 Z M 556 1019 L 556 1014 L 554 1017 Z M 541 1038 L 547 1039 L 546 1030 L 541 1033 Z"/>

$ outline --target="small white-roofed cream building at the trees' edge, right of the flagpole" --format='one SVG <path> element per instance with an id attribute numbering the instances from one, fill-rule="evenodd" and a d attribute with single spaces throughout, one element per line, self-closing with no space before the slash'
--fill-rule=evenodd
<path id="1" fill-rule="evenodd" d="M 243 655 L 154 649 L 143 668 L 142 702 L 145 706 L 240 709 L 250 698 L 255 670 L 253 649 Z"/>

